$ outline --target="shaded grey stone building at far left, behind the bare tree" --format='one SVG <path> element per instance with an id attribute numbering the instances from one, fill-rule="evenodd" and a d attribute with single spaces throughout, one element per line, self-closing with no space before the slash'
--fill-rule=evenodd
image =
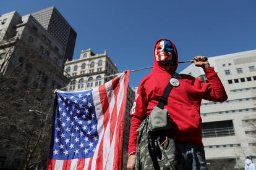
<path id="1" fill-rule="evenodd" d="M 63 65 L 65 61 L 63 54 L 62 45 L 56 38 L 49 34 L 32 15 L 21 16 L 15 11 L 0 15 L 1 125 L 3 123 L 2 119 L 7 116 L 12 116 L 13 118 L 16 112 L 10 113 L 7 110 L 11 110 L 12 107 L 15 107 L 18 108 L 17 113 L 19 112 L 21 115 L 21 117 L 17 119 L 17 123 L 23 124 L 22 127 L 19 126 L 19 129 L 23 128 L 22 131 L 25 132 L 29 129 L 28 126 L 32 127 L 32 125 L 36 126 L 36 128 L 33 129 L 34 131 L 40 128 L 40 125 L 38 125 L 39 122 L 36 122 L 37 120 L 28 122 L 28 116 L 25 115 L 29 115 L 28 110 L 30 107 L 33 107 L 29 105 L 29 103 L 33 103 L 35 100 L 38 103 L 42 103 L 43 99 L 49 101 L 51 96 L 49 96 L 46 91 L 66 86 L 66 84 L 69 83 L 69 79 L 63 75 Z M 9 81 L 9 83 L 5 84 L 7 81 Z M 2 88 L 4 86 L 6 87 Z M 33 94 L 33 96 L 38 98 L 34 97 L 28 103 L 23 102 L 25 100 L 18 101 L 12 99 L 10 105 L 3 107 L 3 94 L 10 94 L 8 97 L 12 97 L 17 94 L 22 94 L 23 91 L 36 91 L 38 94 Z M 19 96 L 17 98 L 20 99 Z M 15 101 L 17 101 L 19 105 L 12 105 Z M 43 107 L 43 104 L 40 106 Z M 7 108 L 7 110 L 3 108 Z M 25 111 L 22 113 L 22 111 L 19 111 L 19 108 Z M 41 112 L 39 111 L 39 113 Z M 36 113 L 31 114 L 36 115 Z M 11 121 L 12 120 L 14 121 L 14 119 L 11 119 Z M 17 126 L 17 124 L 15 125 Z M 22 169 L 25 164 L 26 151 L 19 147 L 20 145 L 18 144 L 22 144 L 23 142 L 25 144 L 25 140 L 27 139 L 21 140 L 23 136 L 20 134 L 20 138 L 17 139 L 15 145 L 13 145 L 12 142 L 14 141 L 12 139 L 15 136 L 12 134 L 14 129 L 11 126 L 11 123 L 10 125 L 7 124 L 6 127 L 1 126 L 0 169 Z M 12 129 L 12 131 L 8 131 L 7 129 Z M 15 131 L 16 130 L 17 129 L 15 129 Z M 4 134 L 5 131 L 7 131 L 7 134 Z M 2 136 L 8 136 L 11 142 L 7 142 L 6 144 Z M 50 133 L 47 133 L 46 136 L 50 136 Z M 30 139 L 30 142 L 33 141 L 33 139 Z M 43 145 L 47 145 L 46 147 L 48 147 L 47 143 Z M 42 149 L 43 145 L 40 146 Z M 43 152 L 47 153 L 47 148 Z M 37 155 L 37 153 L 39 152 L 34 154 Z M 38 158 L 46 160 L 46 157 Z"/>

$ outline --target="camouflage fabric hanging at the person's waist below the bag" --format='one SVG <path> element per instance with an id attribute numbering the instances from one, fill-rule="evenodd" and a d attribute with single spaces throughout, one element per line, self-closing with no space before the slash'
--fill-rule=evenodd
<path id="1" fill-rule="evenodd" d="M 177 169 L 176 148 L 170 131 L 153 132 L 149 117 L 142 121 L 137 129 L 135 169 Z"/>

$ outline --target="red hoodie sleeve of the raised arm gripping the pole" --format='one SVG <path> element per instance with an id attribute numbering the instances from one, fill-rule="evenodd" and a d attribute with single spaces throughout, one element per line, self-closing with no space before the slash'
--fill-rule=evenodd
<path id="1" fill-rule="evenodd" d="M 208 83 L 205 83 L 206 92 L 203 99 L 210 100 L 213 102 L 224 102 L 228 99 L 226 91 L 220 78 L 215 73 L 213 67 L 204 69 L 205 75 L 207 76 Z"/>

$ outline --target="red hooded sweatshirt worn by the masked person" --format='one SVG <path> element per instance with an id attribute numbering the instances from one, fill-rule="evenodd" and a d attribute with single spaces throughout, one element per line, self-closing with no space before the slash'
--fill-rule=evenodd
<path id="1" fill-rule="evenodd" d="M 156 41 L 156 44 L 163 39 Z M 169 39 L 165 39 L 170 41 Z M 173 44 L 173 42 L 171 42 Z M 156 47 L 156 45 L 155 45 Z M 155 56 L 155 47 L 153 56 Z M 174 54 L 178 57 L 175 45 Z M 178 61 L 178 60 L 177 60 Z M 136 131 L 143 119 L 150 115 L 157 105 L 164 89 L 171 79 L 171 73 L 175 71 L 166 70 L 161 67 L 154 57 L 153 69 L 140 81 L 139 89 L 135 95 L 134 106 L 130 112 L 130 138 L 128 154 L 135 153 L 137 147 Z M 198 68 L 200 69 L 200 68 Z M 171 129 L 173 139 L 180 142 L 203 147 L 202 143 L 202 119 L 200 116 L 200 104 L 202 99 L 214 102 L 224 102 L 228 99 L 223 84 L 213 67 L 204 69 L 208 83 L 193 76 L 181 74 L 180 85 L 173 87 L 168 97 L 168 102 L 164 105 L 171 115 Z"/>

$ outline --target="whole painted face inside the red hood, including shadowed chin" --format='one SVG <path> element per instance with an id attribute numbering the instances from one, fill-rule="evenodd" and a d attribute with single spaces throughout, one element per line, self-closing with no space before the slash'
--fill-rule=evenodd
<path id="1" fill-rule="evenodd" d="M 174 55 L 173 45 L 170 41 L 162 40 L 156 44 L 155 57 L 156 61 L 168 70 L 170 67 L 176 65 L 176 57 Z"/>

